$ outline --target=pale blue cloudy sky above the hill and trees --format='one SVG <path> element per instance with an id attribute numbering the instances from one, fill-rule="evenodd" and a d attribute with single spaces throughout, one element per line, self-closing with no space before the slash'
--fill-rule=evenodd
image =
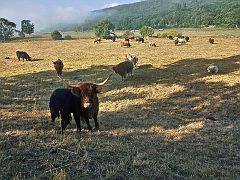
<path id="1" fill-rule="evenodd" d="M 30 20 L 35 30 L 59 23 L 81 23 L 90 11 L 141 0 L 0 0 L 0 18 L 17 24 Z"/>

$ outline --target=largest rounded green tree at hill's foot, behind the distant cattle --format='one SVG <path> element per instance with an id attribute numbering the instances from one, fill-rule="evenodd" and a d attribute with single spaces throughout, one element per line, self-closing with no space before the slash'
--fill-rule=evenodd
<path id="1" fill-rule="evenodd" d="M 115 26 L 109 19 L 98 21 L 94 26 L 94 32 L 97 37 L 106 38 L 114 32 Z"/>

